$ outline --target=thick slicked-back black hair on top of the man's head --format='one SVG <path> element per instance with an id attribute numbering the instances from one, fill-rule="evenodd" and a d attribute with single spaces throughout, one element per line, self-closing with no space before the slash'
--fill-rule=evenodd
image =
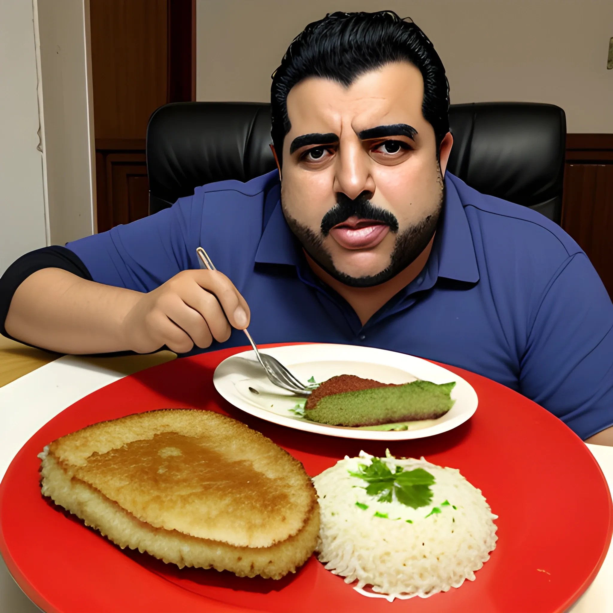
<path id="1" fill-rule="evenodd" d="M 283 139 L 291 129 L 287 94 L 307 77 L 351 85 L 357 77 L 386 64 L 408 61 L 424 77 L 422 113 L 436 137 L 436 151 L 449 132 L 449 82 L 432 42 L 413 23 L 391 10 L 329 13 L 310 23 L 287 48 L 272 75 L 272 140 L 281 164 Z"/>

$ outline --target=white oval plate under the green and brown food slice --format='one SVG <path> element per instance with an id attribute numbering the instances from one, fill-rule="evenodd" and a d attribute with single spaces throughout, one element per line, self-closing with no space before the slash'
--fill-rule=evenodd
<path id="1" fill-rule="evenodd" d="M 287 345 L 264 349 L 276 357 L 303 383 L 314 377 L 321 383 L 335 375 L 357 375 L 382 383 L 408 383 L 424 379 L 432 383 L 455 381 L 454 406 L 439 419 L 411 422 L 408 430 L 381 431 L 317 424 L 292 414 L 299 398 L 268 381 L 253 351 L 243 351 L 221 362 L 215 369 L 215 389 L 229 403 L 251 415 L 297 430 L 328 436 L 371 441 L 400 441 L 447 432 L 463 424 L 477 409 L 477 394 L 462 377 L 446 368 L 395 351 L 353 345 Z M 249 391 L 256 389 L 259 394 Z"/>

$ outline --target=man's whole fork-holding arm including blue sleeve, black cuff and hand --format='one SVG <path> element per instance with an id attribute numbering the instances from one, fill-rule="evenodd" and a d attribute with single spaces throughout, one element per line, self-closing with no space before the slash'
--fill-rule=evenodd
<path id="1" fill-rule="evenodd" d="M 182 353 L 246 327 L 234 285 L 197 268 L 196 248 L 213 247 L 215 232 L 202 229 L 206 195 L 197 189 L 156 215 L 20 258 L 0 280 L 6 333 L 69 353 Z"/>

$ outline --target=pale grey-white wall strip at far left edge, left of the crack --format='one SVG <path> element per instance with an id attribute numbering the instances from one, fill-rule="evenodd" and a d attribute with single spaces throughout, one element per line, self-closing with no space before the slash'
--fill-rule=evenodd
<path id="1" fill-rule="evenodd" d="M 47 243 L 33 20 L 32 2 L 0 1 L 0 274 Z"/>

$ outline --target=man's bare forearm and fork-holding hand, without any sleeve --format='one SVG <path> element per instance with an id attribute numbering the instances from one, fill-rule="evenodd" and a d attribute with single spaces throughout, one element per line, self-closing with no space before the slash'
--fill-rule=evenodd
<path id="1" fill-rule="evenodd" d="M 44 268 L 17 288 L 4 326 L 13 338 L 63 353 L 147 353 L 164 345 L 183 353 L 223 342 L 230 324 L 248 322 L 245 300 L 219 272 L 185 270 L 143 293 Z"/>

